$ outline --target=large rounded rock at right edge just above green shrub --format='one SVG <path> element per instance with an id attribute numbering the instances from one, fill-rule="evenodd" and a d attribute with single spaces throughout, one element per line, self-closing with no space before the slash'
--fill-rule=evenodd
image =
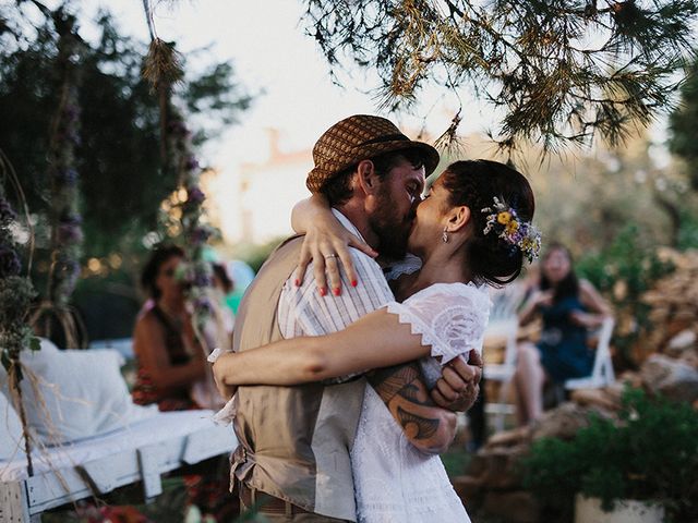
<path id="1" fill-rule="evenodd" d="M 698 370 L 662 354 L 651 355 L 640 369 L 645 387 L 674 401 L 698 399 Z"/>

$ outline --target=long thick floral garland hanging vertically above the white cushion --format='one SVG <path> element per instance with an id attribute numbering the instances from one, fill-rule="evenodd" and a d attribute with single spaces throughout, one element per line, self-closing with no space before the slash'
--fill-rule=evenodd
<path id="1" fill-rule="evenodd" d="M 51 264 L 46 299 L 32 324 L 46 337 L 57 320 L 65 344 L 77 348 L 85 341 L 84 327 L 69 306 L 80 277 L 83 231 L 79 211 L 79 173 L 75 149 L 80 146 L 80 56 L 82 40 L 74 31 L 75 19 L 63 12 L 57 20 L 59 53 L 57 70 L 62 78 L 60 99 L 51 127 L 49 149 L 49 221 L 51 223 Z"/>

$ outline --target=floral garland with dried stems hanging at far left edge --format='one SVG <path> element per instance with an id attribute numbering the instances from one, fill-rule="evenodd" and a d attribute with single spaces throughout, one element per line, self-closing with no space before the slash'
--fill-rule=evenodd
<path id="1" fill-rule="evenodd" d="M 20 388 L 24 377 L 20 354 L 27 349 L 37 351 L 40 348 L 39 340 L 27 323 L 29 307 L 36 292 L 28 277 L 22 276 L 22 263 L 17 253 L 20 246 L 15 236 L 20 220 L 7 197 L 5 185 L 12 183 L 20 199 L 24 198 L 14 171 L 2 151 L 0 151 L 0 362 L 8 373 L 10 399 L 22 422 L 27 472 L 32 476 L 34 473 L 32 437 L 27 429 L 26 412 Z M 31 236 L 28 214 L 25 211 L 25 215 L 27 215 L 25 221 Z"/>

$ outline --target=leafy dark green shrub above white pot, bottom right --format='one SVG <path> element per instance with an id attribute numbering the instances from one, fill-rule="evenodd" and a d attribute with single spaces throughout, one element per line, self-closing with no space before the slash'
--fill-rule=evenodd
<path id="1" fill-rule="evenodd" d="M 571 520 L 575 497 L 577 523 L 601 521 L 583 515 L 594 504 L 607 522 L 698 521 L 698 413 L 687 403 L 627 388 L 618 419 L 593 416 L 569 441 L 542 438 L 522 466 L 552 521 Z M 634 515 L 613 520 L 614 510 Z"/>

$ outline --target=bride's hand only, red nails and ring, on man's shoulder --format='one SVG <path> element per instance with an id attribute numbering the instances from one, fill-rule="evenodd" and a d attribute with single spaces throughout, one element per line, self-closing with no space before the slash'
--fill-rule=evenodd
<path id="1" fill-rule="evenodd" d="M 306 220 L 304 224 L 305 239 L 296 269 L 296 284 L 302 283 L 308 265 L 312 262 L 313 276 L 320 293 L 323 296 L 327 294 L 327 275 L 329 275 L 329 289 L 333 294 L 339 295 L 341 293 L 339 262 L 341 262 L 347 279 L 356 287 L 358 278 L 349 247 L 358 248 L 371 257 L 377 256 L 378 253 L 349 232 L 326 206 L 317 208 L 315 205 L 313 219 Z"/>

